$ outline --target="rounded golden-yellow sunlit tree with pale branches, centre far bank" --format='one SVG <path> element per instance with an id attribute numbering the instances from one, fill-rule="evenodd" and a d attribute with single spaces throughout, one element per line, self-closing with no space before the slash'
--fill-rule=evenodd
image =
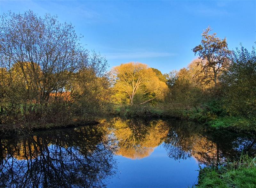
<path id="1" fill-rule="evenodd" d="M 144 104 L 162 96 L 167 88 L 166 84 L 159 80 L 156 73 L 146 64 L 134 62 L 121 64 L 114 67 L 112 72 L 116 81 L 114 89 L 126 94 L 131 105 L 136 94 L 143 96 L 144 101 L 140 104 Z"/>

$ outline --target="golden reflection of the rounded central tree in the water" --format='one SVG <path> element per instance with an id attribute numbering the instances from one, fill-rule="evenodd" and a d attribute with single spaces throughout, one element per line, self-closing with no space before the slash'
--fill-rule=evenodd
<path id="1" fill-rule="evenodd" d="M 112 125 L 118 139 L 116 154 L 130 159 L 142 159 L 149 156 L 154 148 L 163 142 L 169 128 L 161 120 L 114 118 Z"/>

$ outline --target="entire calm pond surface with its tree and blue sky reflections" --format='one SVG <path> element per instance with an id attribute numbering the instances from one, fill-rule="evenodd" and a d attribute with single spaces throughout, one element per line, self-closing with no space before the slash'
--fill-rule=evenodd
<path id="1" fill-rule="evenodd" d="M 0 187 L 191 187 L 199 166 L 254 154 L 253 136 L 112 118 L 0 139 Z"/>

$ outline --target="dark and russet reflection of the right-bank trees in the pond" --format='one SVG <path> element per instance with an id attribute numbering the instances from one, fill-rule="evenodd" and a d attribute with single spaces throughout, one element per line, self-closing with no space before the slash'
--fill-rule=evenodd
<path id="1" fill-rule="evenodd" d="M 241 152 L 256 153 L 255 138 L 228 131 L 205 131 L 204 126 L 188 121 L 169 121 L 170 131 L 164 140 L 169 157 L 176 160 L 194 157 L 200 164 L 218 165 L 237 159 Z"/>

